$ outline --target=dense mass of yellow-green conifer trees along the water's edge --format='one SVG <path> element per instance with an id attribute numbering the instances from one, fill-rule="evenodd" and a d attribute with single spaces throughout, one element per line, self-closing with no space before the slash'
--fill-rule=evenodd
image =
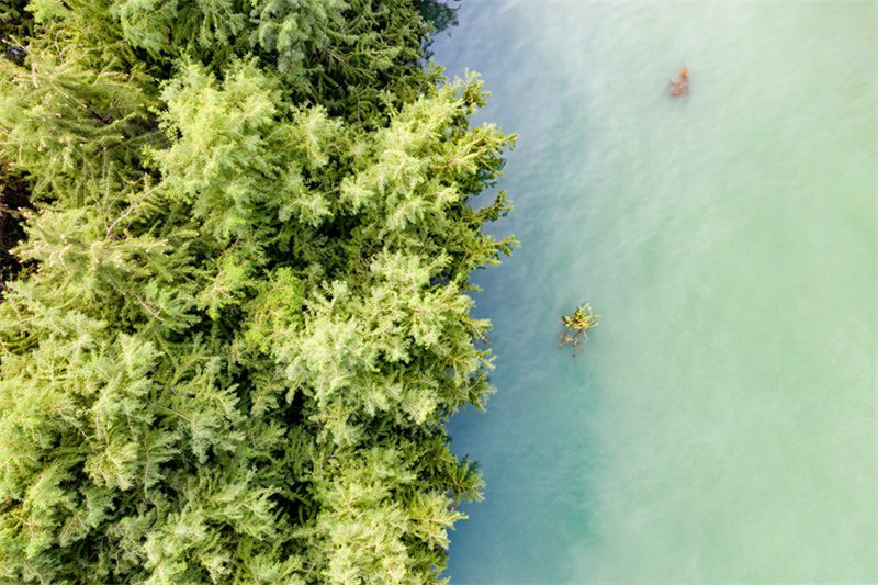
<path id="1" fill-rule="evenodd" d="M 0 582 L 441 581 L 514 136 L 412 0 L 0 0 Z"/>

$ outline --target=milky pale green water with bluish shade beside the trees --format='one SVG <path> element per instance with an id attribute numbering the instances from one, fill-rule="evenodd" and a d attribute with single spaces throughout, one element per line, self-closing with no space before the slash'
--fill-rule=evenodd
<path id="1" fill-rule="evenodd" d="M 496 230 L 524 247 L 477 279 L 499 392 L 452 420 L 488 484 L 452 583 L 878 581 L 878 4 L 459 20 L 436 57 L 520 135 Z"/>

